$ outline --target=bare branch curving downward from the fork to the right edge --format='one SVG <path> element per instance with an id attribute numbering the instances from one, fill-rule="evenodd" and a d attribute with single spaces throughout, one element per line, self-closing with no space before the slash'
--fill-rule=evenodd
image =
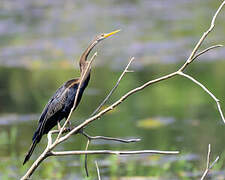
<path id="1" fill-rule="evenodd" d="M 217 104 L 217 108 L 218 108 L 218 111 L 220 113 L 220 116 L 223 120 L 223 122 L 225 123 L 225 119 L 224 119 L 224 115 L 223 115 L 223 112 L 222 112 L 222 109 L 221 109 L 221 106 L 220 106 L 220 102 L 219 102 L 219 99 L 217 99 L 213 93 L 211 93 L 203 84 L 201 84 L 199 81 L 197 81 L 196 79 L 194 79 L 193 77 L 183 73 L 183 72 L 178 72 L 179 75 L 181 76 L 184 76 L 188 79 L 190 79 L 191 81 L 193 81 L 195 84 L 199 85 L 206 93 L 208 93 L 213 99 L 214 101 L 216 101 L 216 104 Z"/>

